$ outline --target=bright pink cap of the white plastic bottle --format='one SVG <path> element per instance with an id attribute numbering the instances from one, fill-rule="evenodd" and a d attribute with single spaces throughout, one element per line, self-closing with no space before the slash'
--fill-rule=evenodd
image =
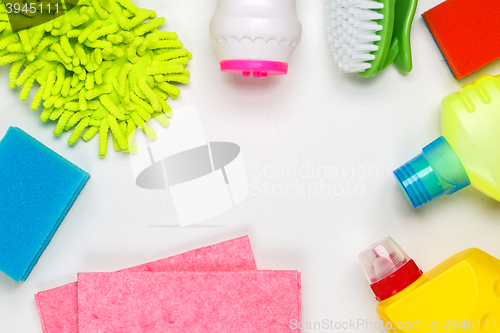
<path id="1" fill-rule="evenodd" d="M 267 60 L 222 60 L 220 70 L 226 73 L 241 73 L 248 77 L 267 77 L 268 75 L 285 75 L 288 64 Z"/>

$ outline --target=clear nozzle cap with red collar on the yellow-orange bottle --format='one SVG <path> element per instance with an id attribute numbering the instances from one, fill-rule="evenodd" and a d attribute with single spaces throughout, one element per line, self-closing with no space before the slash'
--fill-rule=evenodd
<path id="1" fill-rule="evenodd" d="M 422 276 L 422 271 L 390 237 L 359 255 L 365 275 L 378 301 L 403 291 Z"/>

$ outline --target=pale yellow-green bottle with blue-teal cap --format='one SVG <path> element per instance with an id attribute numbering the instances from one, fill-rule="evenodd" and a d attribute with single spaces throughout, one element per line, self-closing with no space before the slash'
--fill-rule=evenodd
<path id="1" fill-rule="evenodd" d="M 394 171 L 413 208 L 472 184 L 500 201 L 500 77 L 483 75 L 441 105 L 442 137 Z"/>

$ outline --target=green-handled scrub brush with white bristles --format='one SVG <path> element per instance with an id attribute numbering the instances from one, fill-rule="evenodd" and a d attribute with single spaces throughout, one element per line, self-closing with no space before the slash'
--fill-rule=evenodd
<path id="1" fill-rule="evenodd" d="M 394 62 L 411 72 L 416 8 L 417 0 L 328 0 L 328 41 L 339 69 L 372 77 Z"/>

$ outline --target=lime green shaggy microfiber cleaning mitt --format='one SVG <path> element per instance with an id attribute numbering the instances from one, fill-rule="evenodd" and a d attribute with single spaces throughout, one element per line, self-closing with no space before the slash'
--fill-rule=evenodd
<path id="1" fill-rule="evenodd" d="M 135 153 L 136 128 L 155 140 L 147 122 L 155 118 L 169 125 L 166 99 L 180 94 L 172 83 L 189 82 L 185 67 L 191 53 L 175 32 L 158 30 L 165 18 L 129 0 L 81 0 L 69 8 L 51 21 L 13 32 L 16 25 L 9 24 L 0 0 L 0 65 L 12 64 L 9 86 L 22 86 L 24 101 L 37 81 L 31 109 L 43 103 L 40 119 L 57 121 L 56 136 L 73 129 L 70 145 L 99 133 L 104 158 L 111 133 L 116 151 Z M 30 14 L 21 11 L 17 22 L 24 22 L 23 15 Z"/>

